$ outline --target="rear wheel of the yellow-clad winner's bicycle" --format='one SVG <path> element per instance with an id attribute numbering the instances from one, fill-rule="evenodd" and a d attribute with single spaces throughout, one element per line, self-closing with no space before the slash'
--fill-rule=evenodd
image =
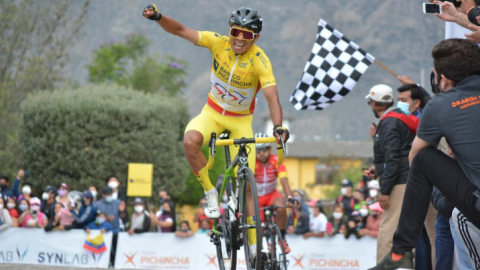
<path id="1" fill-rule="evenodd" d="M 220 175 L 217 179 L 217 184 L 223 182 L 223 175 Z M 220 186 L 221 187 L 221 186 Z M 226 189 L 227 195 L 231 196 L 231 188 L 227 182 Z M 235 270 L 237 267 L 237 247 L 232 246 L 234 237 L 236 237 L 234 227 L 236 224 L 232 224 L 229 219 L 229 211 L 226 209 L 221 218 L 218 220 L 217 230 L 222 232 L 221 235 L 217 235 L 216 250 L 218 267 L 220 270 Z"/>

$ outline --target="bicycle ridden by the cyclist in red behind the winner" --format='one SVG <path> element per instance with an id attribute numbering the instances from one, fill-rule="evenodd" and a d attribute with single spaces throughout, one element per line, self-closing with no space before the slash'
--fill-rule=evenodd
<path id="1" fill-rule="evenodd" d="M 265 222 L 264 222 L 264 231 L 263 237 L 267 243 L 268 247 L 268 264 L 266 269 L 269 270 L 287 270 L 289 261 L 287 260 L 287 254 L 285 253 L 285 242 L 283 241 L 282 233 L 280 232 L 280 228 L 278 228 L 277 223 L 275 221 L 276 214 L 275 210 L 278 208 L 288 208 L 290 206 L 277 206 L 277 205 L 270 205 L 266 207 L 260 208 L 265 212 Z M 293 209 L 293 211 L 295 211 Z M 278 239 L 278 240 L 277 240 Z M 276 243 L 280 244 L 280 253 L 277 257 L 277 245 Z"/>

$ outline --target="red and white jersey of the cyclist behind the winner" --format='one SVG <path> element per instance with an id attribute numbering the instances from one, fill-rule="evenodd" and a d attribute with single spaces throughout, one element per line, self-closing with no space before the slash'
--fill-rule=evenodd
<path id="1" fill-rule="evenodd" d="M 277 189 L 277 179 L 287 177 L 285 164 L 277 164 L 278 157 L 270 155 L 266 164 L 257 160 L 255 165 L 255 182 L 258 196 L 265 196 Z"/>

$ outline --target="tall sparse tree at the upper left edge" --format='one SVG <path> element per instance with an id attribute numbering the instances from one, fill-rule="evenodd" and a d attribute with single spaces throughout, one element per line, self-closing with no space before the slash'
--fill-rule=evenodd
<path id="1" fill-rule="evenodd" d="M 64 82 L 61 71 L 89 3 L 0 0 L 0 171 L 19 165 L 21 101 Z"/>

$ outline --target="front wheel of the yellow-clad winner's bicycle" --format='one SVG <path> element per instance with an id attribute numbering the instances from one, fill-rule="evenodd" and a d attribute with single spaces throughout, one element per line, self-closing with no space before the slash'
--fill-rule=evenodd
<path id="1" fill-rule="evenodd" d="M 258 195 L 257 195 L 257 186 L 255 183 L 255 177 L 253 176 L 252 170 L 250 168 L 244 168 L 241 172 L 238 173 L 238 178 L 242 186 L 241 189 L 241 229 L 243 236 L 243 249 L 245 250 L 245 263 L 248 270 L 256 269 L 260 270 L 262 265 L 262 236 L 261 236 L 261 226 L 262 221 L 260 218 L 260 208 L 258 205 Z M 250 192 L 249 192 L 250 190 Z M 248 203 L 247 203 L 248 201 Z M 247 206 L 253 205 L 253 224 L 247 224 Z M 251 215 L 252 213 L 250 213 Z M 248 232 L 255 234 L 255 239 L 253 243 L 248 237 Z M 253 237 L 252 237 L 253 238 Z M 254 259 L 254 254 L 250 251 L 250 246 L 255 246 L 252 250 L 256 253 L 256 258 Z"/>

